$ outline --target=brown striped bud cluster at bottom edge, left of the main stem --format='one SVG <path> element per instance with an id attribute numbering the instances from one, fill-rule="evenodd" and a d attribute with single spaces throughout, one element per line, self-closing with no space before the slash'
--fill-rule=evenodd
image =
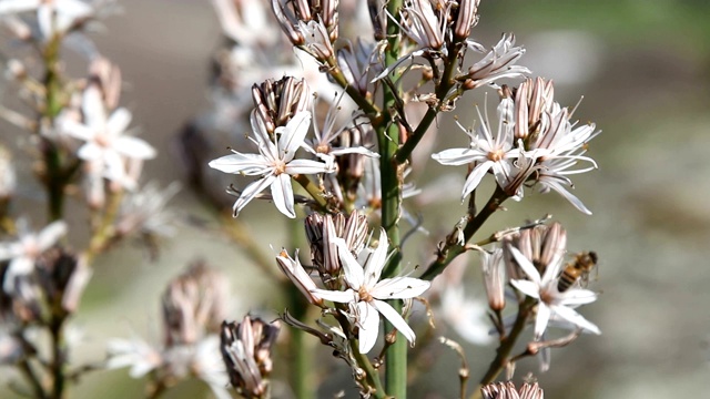
<path id="1" fill-rule="evenodd" d="M 222 323 L 221 351 L 230 382 L 245 398 L 268 396 L 268 375 L 273 369 L 272 346 L 281 326 L 252 319 L 248 315 L 242 323 Z"/>

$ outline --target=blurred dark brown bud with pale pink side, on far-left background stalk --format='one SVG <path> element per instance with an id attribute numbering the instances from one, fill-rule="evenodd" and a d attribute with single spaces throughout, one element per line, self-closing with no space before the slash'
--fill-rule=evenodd
<path id="1" fill-rule="evenodd" d="M 92 274 L 87 259 L 54 247 L 37 259 L 36 267 L 44 296 L 52 308 L 60 305 L 67 314 L 74 313 Z"/>

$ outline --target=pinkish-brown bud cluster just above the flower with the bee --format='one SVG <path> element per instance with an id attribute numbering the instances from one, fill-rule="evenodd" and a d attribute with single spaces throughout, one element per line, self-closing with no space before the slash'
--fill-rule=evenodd
<path id="1" fill-rule="evenodd" d="M 552 259 L 565 255 L 567 232 L 562 225 L 556 222 L 549 226 L 538 225 L 524 229 L 507 241 L 509 245 L 518 248 L 526 258 L 530 259 L 542 275 Z M 510 254 L 509 245 L 504 245 L 508 277 L 511 279 L 525 278 L 525 273 Z"/>

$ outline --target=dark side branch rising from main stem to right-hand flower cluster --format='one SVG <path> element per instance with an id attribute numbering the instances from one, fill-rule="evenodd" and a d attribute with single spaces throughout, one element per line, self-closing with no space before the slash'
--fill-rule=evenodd
<path id="1" fill-rule="evenodd" d="M 506 194 L 506 192 L 503 188 L 500 188 L 499 186 L 496 186 L 496 191 L 493 193 L 493 195 L 486 203 L 486 206 L 484 206 L 484 208 L 480 209 L 480 212 L 476 216 L 471 215 L 473 217 L 470 217 L 469 221 L 466 223 L 466 226 L 463 229 L 464 244 L 470 241 L 474 234 L 478 232 L 480 226 L 484 225 L 484 223 L 488 219 L 488 217 L 490 217 L 490 215 L 493 215 L 496 211 L 498 211 L 500 205 L 508 197 L 509 195 Z M 453 237 L 456 235 L 457 235 L 457 231 L 455 229 L 454 232 L 452 232 L 449 237 Z M 464 248 L 464 245 L 462 243 L 456 243 L 455 241 L 454 242 L 447 241 L 447 243 L 444 244 L 444 247 L 439 249 L 439 254 L 437 258 L 434 262 L 432 262 L 432 264 L 429 264 L 426 272 L 424 272 L 424 274 L 419 278 L 426 279 L 426 280 L 434 279 L 434 277 L 438 276 L 442 272 L 444 272 L 446 266 L 448 266 L 448 264 L 452 263 L 452 260 L 454 260 L 455 257 L 457 257 L 465 250 L 466 249 Z"/>

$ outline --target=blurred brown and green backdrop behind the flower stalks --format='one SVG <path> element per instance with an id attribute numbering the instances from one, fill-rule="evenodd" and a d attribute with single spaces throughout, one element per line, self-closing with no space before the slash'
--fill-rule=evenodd
<path id="1" fill-rule="evenodd" d="M 92 39 L 121 68 L 128 83 L 122 103 L 133 112 L 133 125 L 159 150 L 160 156 L 146 164 L 145 177 L 164 184 L 181 181 L 184 160 L 175 140 L 186 122 L 210 106 L 211 59 L 222 41 L 217 18 L 206 0 L 120 3 L 124 12 L 105 20 L 105 32 Z M 554 79 L 562 104 L 575 104 L 584 95 L 576 116 L 604 131 L 588 152 L 599 170 L 574 178 L 575 194 L 592 216 L 556 194 L 531 195 L 527 205 L 507 203 L 509 211 L 496 215 L 490 226 L 493 232 L 554 213 L 568 231 L 570 250 L 599 254 L 591 288 L 602 294 L 581 313 L 604 335 L 582 336 L 571 347 L 552 350 L 550 371 L 535 372 L 548 398 L 707 396 L 709 17 L 710 2 L 701 0 L 483 1 L 474 38 L 488 47 L 503 32 L 515 32 L 517 43 L 527 49 L 520 64 Z M 459 103 L 454 113 L 470 113 L 465 105 Z M 463 144 L 463 137 L 457 140 Z M 459 187 L 453 190 L 458 193 Z M 239 247 L 213 233 L 214 215 L 200 198 L 184 188 L 171 204 L 181 221 L 189 215 L 201 223 L 181 224 L 156 262 L 130 244 L 97 260 L 74 319 L 87 349 L 77 361 L 101 360 L 108 337 L 159 341 L 164 286 L 196 258 L 229 275 L 235 293 L 233 318 L 267 304 L 270 291 L 263 287 L 268 279 Z M 464 206 L 453 212 L 453 206 L 458 201 L 430 211 L 452 226 L 465 212 Z M 264 223 L 272 207 L 253 203 L 240 216 L 267 254 L 270 245 L 288 243 L 285 225 Z M 280 310 L 273 306 L 266 307 Z M 494 348 L 466 349 L 475 377 Z M 424 388 L 413 391 L 413 398 L 456 395 L 458 362 L 454 357 L 440 362 L 437 374 L 417 381 Z M 535 359 L 521 362 L 517 376 L 527 370 L 537 371 Z M 439 387 L 444 393 L 437 396 Z M 98 371 L 87 375 L 72 397 L 132 398 L 142 390 L 143 381 L 129 379 L 125 369 Z M 203 395 L 211 393 L 190 382 L 165 398 Z M 0 391 L 0 397 L 11 396 Z"/>

